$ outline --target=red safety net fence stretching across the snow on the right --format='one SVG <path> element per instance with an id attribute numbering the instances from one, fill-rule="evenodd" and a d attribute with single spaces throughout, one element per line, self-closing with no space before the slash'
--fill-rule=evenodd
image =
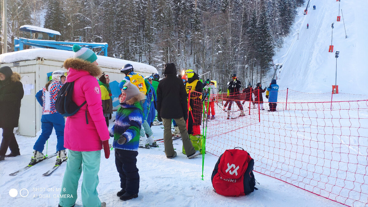
<path id="1" fill-rule="evenodd" d="M 368 206 L 368 95 L 284 90 L 278 92 L 276 111 L 268 112 L 265 94 L 265 110 L 257 100 L 244 101 L 245 94 L 237 100 L 211 96 L 215 119 L 201 119 L 206 151 L 219 156 L 242 147 L 258 173 L 347 206 Z M 229 104 L 224 110 L 226 101 L 233 102 L 230 111 Z"/>

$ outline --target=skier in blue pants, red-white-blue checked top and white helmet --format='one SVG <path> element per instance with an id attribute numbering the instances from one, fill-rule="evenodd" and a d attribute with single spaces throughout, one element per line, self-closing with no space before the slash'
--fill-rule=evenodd
<path id="1" fill-rule="evenodd" d="M 50 138 L 52 128 L 55 128 L 57 144 L 56 144 L 56 164 L 60 165 L 61 162 L 67 160 L 66 151 L 64 147 L 64 117 L 56 111 L 55 102 L 57 94 L 61 88 L 60 77 L 64 76 L 64 71 L 57 70 L 52 73 L 52 80 L 47 82 L 45 87 L 41 88 L 36 94 L 36 99 L 42 106 L 41 128 L 42 133 L 38 137 L 35 145 L 33 146 L 33 155 L 29 165 L 34 165 L 37 162 L 45 159 L 42 154 L 46 141 Z"/>

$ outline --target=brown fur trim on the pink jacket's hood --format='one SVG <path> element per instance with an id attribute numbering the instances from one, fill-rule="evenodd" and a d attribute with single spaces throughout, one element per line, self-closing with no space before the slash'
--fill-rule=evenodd
<path id="1" fill-rule="evenodd" d="M 87 71 L 91 76 L 99 78 L 102 76 L 102 70 L 100 67 L 96 66 L 95 64 L 92 64 L 88 61 L 78 59 L 78 58 L 68 58 L 64 61 L 64 68 L 67 70 L 69 68 L 75 69 L 75 70 L 84 70 Z"/>

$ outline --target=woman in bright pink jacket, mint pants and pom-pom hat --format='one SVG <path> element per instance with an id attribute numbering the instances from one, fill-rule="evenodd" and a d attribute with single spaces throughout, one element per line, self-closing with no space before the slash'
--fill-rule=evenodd
<path id="1" fill-rule="evenodd" d="M 83 170 L 82 204 L 104 207 L 98 198 L 98 171 L 102 145 L 105 158 L 109 158 L 109 130 L 102 112 L 100 87 L 95 77 L 100 77 L 96 54 L 78 45 L 73 46 L 74 58 L 65 60 L 68 70 L 66 82 L 74 81 L 72 101 L 78 106 L 87 102 L 72 116 L 67 117 L 64 129 L 64 147 L 68 151 L 67 168 L 61 185 L 59 206 L 72 207 L 77 200 L 78 181 Z M 82 168 L 83 166 L 83 168 Z"/>

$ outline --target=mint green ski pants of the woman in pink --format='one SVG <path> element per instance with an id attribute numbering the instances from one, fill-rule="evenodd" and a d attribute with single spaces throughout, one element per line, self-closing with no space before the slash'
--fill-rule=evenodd
<path id="1" fill-rule="evenodd" d="M 78 152 L 68 150 L 67 168 L 64 173 L 59 205 L 71 207 L 77 200 L 78 181 L 82 180 L 82 204 L 86 207 L 101 207 L 98 198 L 97 185 L 99 183 L 98 171 L 100 170 L 101 151 Z"/>

